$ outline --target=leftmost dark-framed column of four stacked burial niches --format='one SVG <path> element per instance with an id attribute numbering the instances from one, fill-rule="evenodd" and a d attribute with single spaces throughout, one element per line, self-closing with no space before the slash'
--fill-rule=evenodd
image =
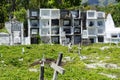
<path id="1" fill-rule="evenodd" d="M 28 27 L 30 44 L 37 44 L 39 35 L 39 10 L 29 10 Z"/>

